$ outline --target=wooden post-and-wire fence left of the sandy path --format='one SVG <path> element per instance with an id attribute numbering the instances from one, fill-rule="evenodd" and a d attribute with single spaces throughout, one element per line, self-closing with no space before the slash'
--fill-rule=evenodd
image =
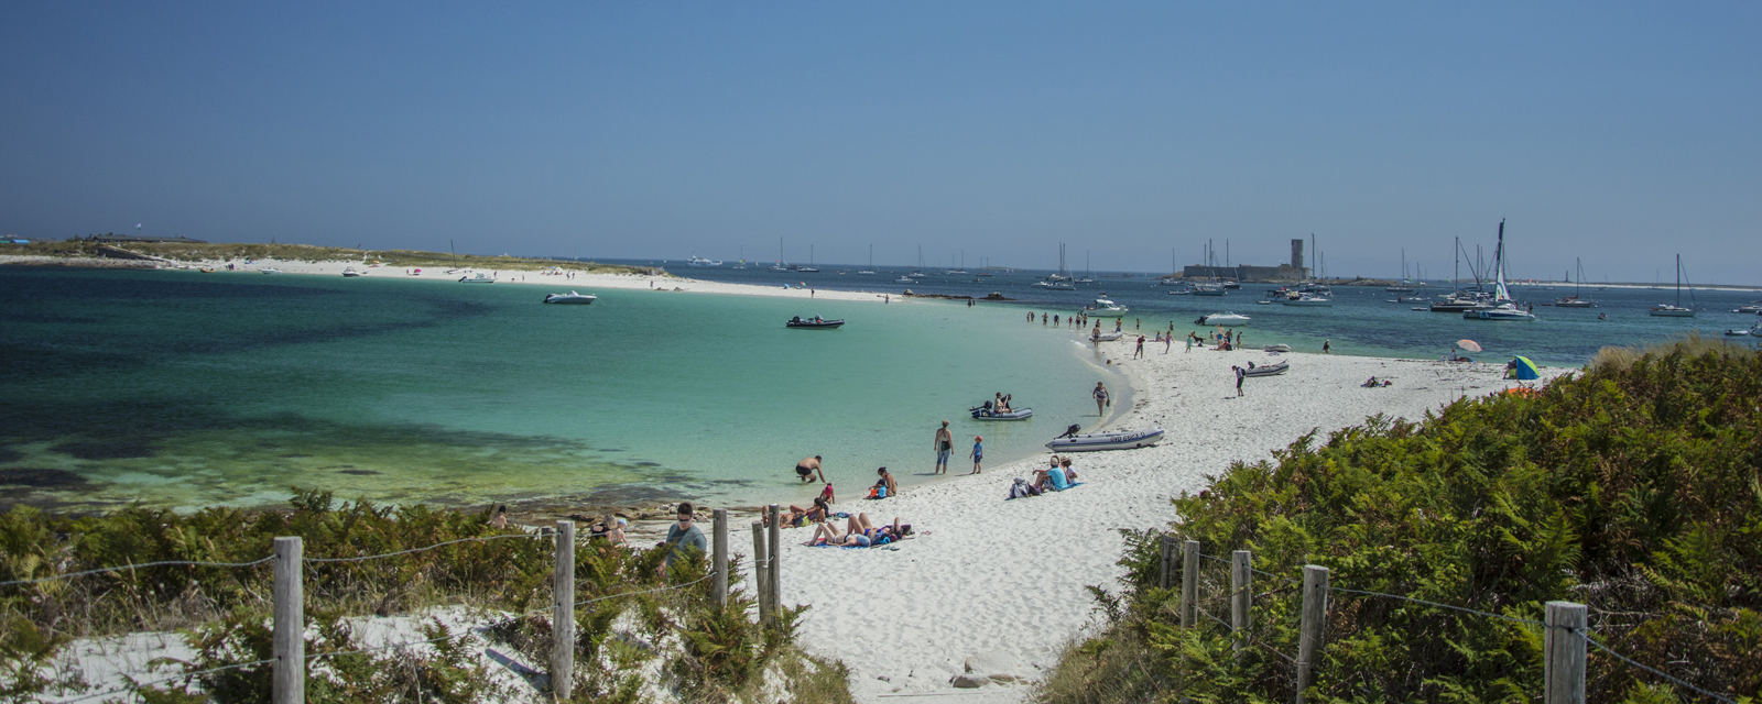
<path id="1" fill-rule="evenodd" d="M 772 526 L 768 539 L 761 540 L 761 523 L 754 521 L 754 546 L 759 551 L 754 556 L 754 574 L 758 576 L 758 605 L 765 618 L 765 623 L 774 623 L 772 616 L 779 609 L 777 598 L 777 574 L 781 570 L 781 561 L 777 560 L 781 533 L 777 530 L 779 507 L 770 505 L 765 509 L 768 524 Z M 95 574 L 109 572 L 130 572 L 153 567 L 208 567 L 208 568 L 252 568 L 264 563 L 275 563 L 273 576 L 273 616 L 271 616 L 271 641 L 273 655 L 263 660 L 227 664 L 220 667 L 210 667 L 201 671 L 187 671 L 167 678 L 136 681 L 134 678 L 123 676 L 129 683 L 125 686 L 109 688 L 104 692 L 81 693 L 74 699 L 62 699 L 62 702 L 85 702 L 111 695 L 136 693 L 146 686 L 173 683 L 173 681 L 190 681 L 204 674 L 217 674 L 226 671 L 271 665 L 273 669 L 273 704 L 298 704 L 305 700 L 305 678 L 307 669 L 319 660 L 345 656 L 345 655 L 363 655 L 377 653 L 388 649 L 405 649 L 425 644 L 433 644 L 440 641 L 463 639 L 463 634 L 451 634 L 430 639 L 393 642 L 372 648 L 356 648 L 347 651 L 328 651 L 328 653 L 305 653 L 305 565 L 326 565 L 326 563 L 361 563 L 389 560 L 405 554 L 426 553 L 448 546 L 467 544 L 467 542 L 488 542 L 488 540 L 552 540 L 555 544 L 553 551 L 553 574 L 552 574 L 552 604 L 543 609 L 527 611 L 522 614 L 511 614 L 500 618 L 497 623 L 481 623 L 469 628 L 493 628 L 497 625 L 506 625 L 511 621 L 525 620 L 529 616 L 552 614 L 552 656 L 550 656 L 550 686 L 552 693 L 559 699 L 567 699 L 573 688 L 573 671 L 574 671 L 574 609 L 596 602 L 640 597 L 650 593 L 685 590 L 691 586 L 703 584 L 705 581 L 714 581 L 710 586 L 710 598 L 717 605 L 728 605 L 728 510 L 714 509 L 712 512 L 712 532 L 710 540 L 710 574 L 698 577 L 682 584 L 668 584 L 648 590 L 629 590 L 611 595 L 592 597 L 585 600 L 576 600 L 574 593 L 580 583 L 574 579 L 574 547 L 576 532 L 574 521 L 557 521 L 555 530 L 544 530 L 537 533 L 507 533 L 507 535 L 485 535 L 470 539 L 444 540 L 432 546 L 400 549 L 379 554 L 347 556 L 347 558 L 307 558 L 305 540 L 301 537 L 278 537 L 273 540 L 273 554 L 252 560 L 252 561 L 192 561 L 192 560 L 169 560 L 169 561 L 152 561 L 139 565 L 118 565 L 118 567 L 100 567 L 92 570 L 65 572 L 37 579 L 14 579 L 0 583 L 0 588 L 12 586 L 32 586 L 53 581 L 65 581 L 76 577 L 86 577 Z M 768 544 L 766 544 L 768 542 Z M 469 630 L 467 628 L 467 630 Z"/>

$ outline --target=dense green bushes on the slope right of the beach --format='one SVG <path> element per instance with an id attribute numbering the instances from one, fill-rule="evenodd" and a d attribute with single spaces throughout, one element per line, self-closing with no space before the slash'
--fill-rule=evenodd
<path id="1" fill-rule="evenodd" d="M 1753 702 L 1762 692 L 1762 357 L 1718 340 L 1603 350 L 1535 392 L 1369 419 L 1235 465 L 1177 498 L 1168 533 L 1129 533 L 1105 630 L 1073 644 L 1041 704 L 1290 702 L 1302 565 L 1334 591 L 1311 702 L 1540 700 L 1544 604 L 1637 664 Z M 1235 653 L 1228 565 L 1200 560 L 1200 609 L 1159 588 L 1161 539 L 1253 551 Z M 1179 570 L 1179 560 L 1177 560 Z M 1415 600 L 1455 605 L 1441 609 Z M 1498 616 L 1485 616 L 1498 614 Z M 1589 649 L 1593 702 L 1711 700 Z"/>

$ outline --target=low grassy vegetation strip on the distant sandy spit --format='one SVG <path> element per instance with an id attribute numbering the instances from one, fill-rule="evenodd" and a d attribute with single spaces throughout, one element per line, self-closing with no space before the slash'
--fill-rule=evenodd
<path id="1" fill-rule="evenodd" d="M 104 259 L 122 250 L 173 262 L 226 262 L 226 260 L 282 260 L 282 262 L 361 262 L 389 268 L 469 268 L 536 271 L 559 266 L 571 271 L 608 275 L 648 275 L 650 269 L 622 264 L 580 262 L 573 259 L 541 257 L 481 257 L 418 250 L 358 250 L 347 246 L 264 245 L 264 243 L 118 243 L 106 245 L 90 239 L 33 241 L 28 245 L 0 243 L 0 255 Z"/>

